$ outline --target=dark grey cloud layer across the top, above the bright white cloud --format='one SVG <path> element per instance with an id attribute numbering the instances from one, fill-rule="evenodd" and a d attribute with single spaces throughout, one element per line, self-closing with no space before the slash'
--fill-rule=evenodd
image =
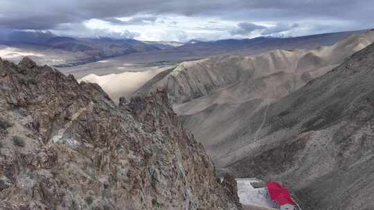
<path id="1" fill-rule="evenodd" d="M 218 16 L 250 21 L 329 18 L 362 22 L 373 18 L 374 0 L 1 0 L 0 26 L 51 29 L 60 23 L 78 23 L 93 18 L 112 19 L 113 23 L 118 24 L 121 21 L 114 17 L 129 17 L 139 12 Z"/>

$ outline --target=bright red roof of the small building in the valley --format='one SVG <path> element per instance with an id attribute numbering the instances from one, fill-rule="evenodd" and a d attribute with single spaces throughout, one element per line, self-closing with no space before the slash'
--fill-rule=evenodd
<path id="1" fill-rule="evenodd" d="M 266 187 L 271 200 L 278 204 L 279 209 L 294 210 L 296 203 L 292 200 L 287 188 L 283 188 L 278 182 L 267 182 Z"/>

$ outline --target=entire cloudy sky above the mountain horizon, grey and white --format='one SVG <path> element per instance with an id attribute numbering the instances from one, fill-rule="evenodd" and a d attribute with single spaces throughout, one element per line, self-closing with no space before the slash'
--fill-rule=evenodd
<path id="1" fill-rule="evenodd" d="M 0 30 L 188 41 L 374 28 L 374 0 L 0 0 Z"/>

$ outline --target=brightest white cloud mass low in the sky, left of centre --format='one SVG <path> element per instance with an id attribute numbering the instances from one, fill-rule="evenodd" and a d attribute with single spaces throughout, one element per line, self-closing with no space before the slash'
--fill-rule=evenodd
<path id="1" fill-rule="evenodd" d="M 84 23 L 66 23 L 52 30 L 57 35 L 74 37 L 134 38 L 144 41 L 215 40 L 231 37 L 229 30 L 237 23 L 219 18 L 181 15 L 135 15 L 115 20 L 90 19 Z M 146 24 L 139 24 L 145 22 Z"/>

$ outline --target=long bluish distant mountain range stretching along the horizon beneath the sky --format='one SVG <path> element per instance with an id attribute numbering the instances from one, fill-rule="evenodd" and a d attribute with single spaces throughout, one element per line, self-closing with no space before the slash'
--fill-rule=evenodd
<path id="1" fill-rule="evenodd" d="M 0 34 L 1 48 L 11 47 L 2 57 L 19 61 L 21 55 L 40 54 L 33 57 L 39 64 L 57 67 L 76 66 L 92 61 L 122 56 L 131 56 L 131 61 L 180 61 L 201 59 L 222 55 L 256 55 L 275 49 L 315 48 L 332 45 L 339 39 L 363 31 L 335 32 L 305 37 L 275 38 L 257 37 L 254 39 L 224 39 L 218 41 L 190 40 L 177 41 L 138 41 L 135 39 L 112 39 L 108 37 L 73 38 L 59 37 L 51 32 L 13 31 Z M 2 47 L 1 47 L 2 45 Z M 18 52 L 19 56 L 17 56 Z M 7 53 L 10 56 L 7 57 Z M 3 55 L 5 54 L 5 55 Z"/>

